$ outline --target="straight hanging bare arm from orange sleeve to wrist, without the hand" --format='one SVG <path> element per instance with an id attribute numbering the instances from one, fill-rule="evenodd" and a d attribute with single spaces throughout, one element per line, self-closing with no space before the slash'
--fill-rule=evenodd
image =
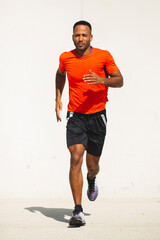
<path id="1" fill-rule="evenodd" d="M 66 74 L 56 73 L 56 101 L 61 100 L 63 88 L 66 81 Z"/>

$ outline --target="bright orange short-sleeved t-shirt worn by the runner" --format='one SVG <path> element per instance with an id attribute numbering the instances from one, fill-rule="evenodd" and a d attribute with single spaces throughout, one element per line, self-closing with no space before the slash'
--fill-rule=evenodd
<path id="1" fill-rule="evenodd" d="M 111 54 L 106 50 L 92 48 L 89 55 L 80 57 L 74 49 L 62 53 L 59 60 L 59 69 L 67 72 L 69 82 L 68 111 L 90 114 L 105 109 L 108 87 L 102 84 L 88 85 L 83 75 L 89 74 L 90 69 L 100 77 L 106 77 L 104 68 L 108 75 L 117 71 Z"/>

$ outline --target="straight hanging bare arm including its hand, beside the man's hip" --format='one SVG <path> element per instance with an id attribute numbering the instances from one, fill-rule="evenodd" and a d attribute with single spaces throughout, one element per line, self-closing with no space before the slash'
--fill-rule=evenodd
<path id="1" fill-rule="evenodd" d="M 61 70 L 58 69 L 56 73 L 56 106 L 55 106 L 57 122 L 62 120 L 60 117 L 60 111 L 62 110 L 61 97 L 62 97 L 65 81 L 66 81 L 66 72 L 61 72 Z"/>

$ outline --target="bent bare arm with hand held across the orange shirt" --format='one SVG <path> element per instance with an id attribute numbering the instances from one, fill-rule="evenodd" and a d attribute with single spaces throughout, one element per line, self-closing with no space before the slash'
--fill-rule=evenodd
<path id="1" fill-rule="evenodd" d="M 96 73 L 92 72 L 90 74 L 86 74 L 83 77 L 83 80 L 88 84 L 103 84 L 108 87 L 122 87 L 123 86 L 123 77 L 119 70 L 115 71 L 114 73 L 110 74 L 108 78 L 103 78 L 98 76 Z"/>

